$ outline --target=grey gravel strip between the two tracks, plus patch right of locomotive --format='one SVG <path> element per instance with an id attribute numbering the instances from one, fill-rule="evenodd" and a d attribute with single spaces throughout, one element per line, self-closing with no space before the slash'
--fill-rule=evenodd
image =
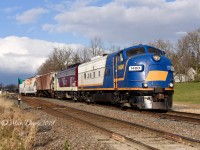
<path id="1" fill-rule="evenodd" d="M 149 126 L 151 128 L 161 129 L 174 134 L 179 134 L 194 139 L 200 139 L 200 124 L 197 123 L 195 124 L 191 122 L 169 120 L 166 118 L 154 117 L 153 115 L 147 115 L 142 112 L 133 113 L 128 111 L 122 111 L 121 109 L 116 109 L 114 107 L 104 107 L 104 105 L 88 105 L 85 103 L 75 103 L 71 101 L 64 101 L 64 100 L 61 101 L 54 99 L 45 99 L 45 100 L 121 120 L 126 120 L 144 126 Z M 174 110 L 180 110 L 181 107 L 182 107 L 181 105 L 178 106 L 176 104 Z M 184 106 L 184 109 L 186 109 L 186 106 Z M 189 110 L 189 108 L 187 108 L 187 110 Z M 190 112 L 193 112 L 194 109 L 190 107 L 190 110 L 191 110 Z M 197 110 L 199 111 L 199 109 Z"/>

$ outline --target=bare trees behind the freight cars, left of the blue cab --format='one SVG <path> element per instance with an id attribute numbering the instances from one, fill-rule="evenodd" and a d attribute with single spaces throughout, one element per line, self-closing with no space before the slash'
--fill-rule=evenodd
<path id="1" fill-rule="evenodd" d="M 77 50 L 71 47 L 54 48 L 46 61 L 38 68 L 37 74 L 62 71 L 69 65 L 88 62 L 92 57 L 103 53 L 103 41 L 99 37 L 94 37 L 89 47 Z"/>

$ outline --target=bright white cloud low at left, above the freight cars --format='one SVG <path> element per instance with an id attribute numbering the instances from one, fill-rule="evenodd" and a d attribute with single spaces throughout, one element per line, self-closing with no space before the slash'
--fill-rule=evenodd
<path id="1" fill-rule="evenodd" d="M 9 73 L 36 73 L 54 48 L 81 45 L 48 42 L 27 37 L 9 36 L 0 39 L 0 70 Z"/>

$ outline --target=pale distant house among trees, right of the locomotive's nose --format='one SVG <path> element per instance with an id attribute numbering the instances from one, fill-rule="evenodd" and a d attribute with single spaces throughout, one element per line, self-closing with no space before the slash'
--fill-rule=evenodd
<path id="1" fill-rule="evenodd" d="M 187 75 L 185 74 L 176 74 L 174 76 L 174 81 L 175 82 L 188 82 L 188 81 L 194 81 L 195 80 L 195 75 L 196 71 L 191 67 L 187 71 Z"/>

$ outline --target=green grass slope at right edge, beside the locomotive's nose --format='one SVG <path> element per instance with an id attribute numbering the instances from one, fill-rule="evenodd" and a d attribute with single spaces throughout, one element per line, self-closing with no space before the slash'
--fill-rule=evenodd
<path id="1" fill-rule="evenodd" d="M 200 104 L 200 82 L 175 83 L 174 102 Z"/>

